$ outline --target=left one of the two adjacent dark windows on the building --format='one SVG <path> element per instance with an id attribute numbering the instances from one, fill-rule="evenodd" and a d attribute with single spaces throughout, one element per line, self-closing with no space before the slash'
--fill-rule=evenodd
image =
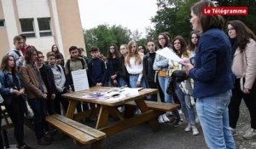
<path id="1" fill-rule="evenodd" d="M 34 19 L 20 19 L 21 34 L 26 37 L 36 37 Z"/>

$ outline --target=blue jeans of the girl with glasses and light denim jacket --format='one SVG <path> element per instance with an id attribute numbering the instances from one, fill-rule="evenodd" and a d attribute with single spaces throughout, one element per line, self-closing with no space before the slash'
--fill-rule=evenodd
<path id="1" fill-rule="evenodd" d="M 162 89 L 164 95 L 165 95 L 165 102 L 166 103 L 174 103 L 172 95 L 169 95 L 166 93 L 167 85 L 169 83 L 170 77 L 158 77 L 158 81 L 160 83 L 160 88 Z M 179 113 L 177 110 L 173 111 L 173 114 L 177 119 L 180 119 Z"/>

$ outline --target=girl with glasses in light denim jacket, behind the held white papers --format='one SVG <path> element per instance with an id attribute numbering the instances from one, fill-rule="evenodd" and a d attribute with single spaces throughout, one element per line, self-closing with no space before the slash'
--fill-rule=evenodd
<path id="1" fill-rule="evenodd" d="M 159 50 L 162 50 L 164 48 L 168 48 L 168 49 L 172 50 L 170 41 L 165 33 L 160 33 L 158 38 L 159 38 L 158 44 L 160 47 Z M 158 80 L 160 83 L 160 88 L 162 89 L 162 91 L 165 94 L 165 102 L 168 102 L 168 103 L 173 103 L 172 95 L 169 95 L 166 93 L 166 89 L 167 89 L 167 86 L 168 86 L 168 83 L 170 80 L 169 75 L 171 75 L 171 74 L 169 74 L 169 70 L 170 70 L 169 66 L 172 66 L 172 65 L 173 65 L 172 61 L 168 60 L 166 57 L 164 57 L 160 54 L 155 55 L 153 69 L 154 69 L 154 71 L 158 72 Z M 177 127 L 182 122 L 181 117 L 177 110 L 173 111 L 173 114 L 177 118 L 173 124 L 174 124 L 174 126 Z M 163 114 L 158 118 L 158 121 L 159 121 L 159 123 L 165 123 L 165 122 L 169 122 L 170 120 L 166 116 L 166 114 Z"/>

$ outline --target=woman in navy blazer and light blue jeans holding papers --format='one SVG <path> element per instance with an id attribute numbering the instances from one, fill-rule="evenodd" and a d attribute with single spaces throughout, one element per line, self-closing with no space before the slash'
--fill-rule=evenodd
<path id="1" fill-rule="evenodd" d="M 209 148 L 236 148 L 230 131 L 229 109 L 233 78 L 231 44 L 222 30 L 224 18 L 205 15 L 202 10 L 215 7 L 211 1 L 201 1 L 191 7 L 190 23 L 201 32 L 195 50 L 195 66 L 188 64 L 186 73 L 195 80 L 193 97 L 196 111 Z"/>

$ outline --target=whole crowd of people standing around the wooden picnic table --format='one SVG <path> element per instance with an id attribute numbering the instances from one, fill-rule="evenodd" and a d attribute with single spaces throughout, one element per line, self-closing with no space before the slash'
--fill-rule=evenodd
<path id="1" fill-rule="evenodd" d="M 44 117 L 67 112 L 68 101 L 61 95 L 69 89 L 74 90 L 71 72 L 80 69 L 86 69 L 90 87 L 159 89 L 160 100 L 168 103 L 173 103 L 176 95 L 187 123 L 184 131 L 199 135 L 195 123 L 197 112 L 209 148 L 236 148 L 232 135 L 237 135 L 236 123 L 243 99 L 252 127 L 243 138 L 255 137 L 256 61 L 253 58 L 256 56 L 256 37 L 240 20 L 228 22 L 228 37 L 222 31 L 221 16 L 201 14 L 201 8 L 209 6 L 214 7 L 214 4 L 204 1 L 192 6 L 190 22 L 194 31 L 189 36 L 188 45 L 183 37 L 172 39 L 168 32 L 163 32 L 157 45 L 148 41 L 148 53 L 145 46 L 137 46 L 135 41 L 120 47 L 111 43 L 107 58 L 102 58 L 100 49 L 95 46 L 90 48 L 91 58 L 84 56 L 84 49 L 71 46 L 70 59 L 65 63 L 54 44 L 46 54 L 45 62 L 42 52 L 26 44 L 26 37 L 14 37 L 15 48 L 3 56 L 0 66 L 0 94 L 14 123 L 17 147 L 32 148 L 24 142 L 23 117 L 24 113 L 29 114 L 28 105 L 34 114 L 38 144 L 51 143 L 50 128 Z M 158 50 L 172 50 L 187 65 L 156 54 L 157 47 Z M 192 96 L 196 99 L 196 112 Z M 157 101 L 157 95 L 147 96 L 145 100 Z M 77 106 L 78 112 L 88 109 L 88 104 Z M 125 117 L 131 117 L 134 112 L 131 106 L 125 106 Z M 170 114 L 174 118 L 169 119 Z M 160 115 L 158 121 L 177 127 L 183 119 L 175 110 Z"/>

